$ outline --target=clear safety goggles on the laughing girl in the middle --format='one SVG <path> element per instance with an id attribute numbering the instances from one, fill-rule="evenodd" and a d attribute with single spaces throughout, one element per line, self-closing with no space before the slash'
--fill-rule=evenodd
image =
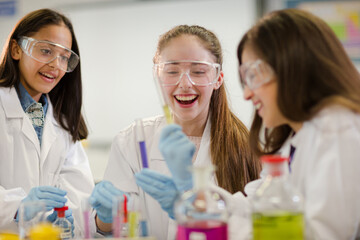
<path id="1" fill-rule="evenodd" d="M 154 76 L 163 86 L 178 85 L 186 76 L 195 86 L 216 83 L 220 76 L 220 64 L 204 61 L 172 61 L 154 64 Z"/>

